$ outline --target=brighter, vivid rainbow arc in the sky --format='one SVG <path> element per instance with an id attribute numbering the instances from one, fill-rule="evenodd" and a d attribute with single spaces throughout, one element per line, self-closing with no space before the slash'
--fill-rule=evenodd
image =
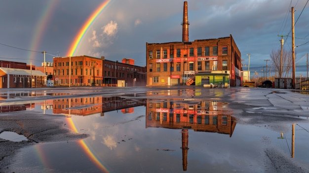
<path id="1" fill-rule="evenodd" d="M 93 21 L 98 17 L 98 15 L 102 12 L 102 10 L 108 5 L 108 3 L 111 0 L 105 0 L 103 3 L 101 3 L 99 5 L 99 7 L 90 15 L 90 17 L 87 19 L 87 21 L 84 23 L 84 25 L 82 26 L 82 28 L 79 30 L 78 34 L 76 35 L 76 37 L 74 38 L 74 41 L 67 53 L 67 56 L 73 56 L 77 46 L 79 45 L 79 42 L 81 41 L 81 39 L 83 38 L 83 36 L 85 35 L 85 33 L 87 32 L 87 30 L 89 29 L 90 25 L 93 23 Z"/>

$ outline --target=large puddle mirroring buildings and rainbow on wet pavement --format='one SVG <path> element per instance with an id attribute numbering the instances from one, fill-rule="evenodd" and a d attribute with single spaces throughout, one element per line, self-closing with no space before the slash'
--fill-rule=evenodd
<path id="1" fill-rule="evenodd" d="M 190 91 L 145 95 L 179 96 L 182 92 Z M 269 157 L 284 153 L 309 164 L 308 122 L 285 124 L 290 130 L 279 133 L 267 125 L 238 124 L 228 104 L 218 100 L 134 97 L 59 98 L 1 105 L 1 112 L 65 115 L 68 128 L 90 135 L 78 141 L 23 148 L 16 157 L 19 164 L 12 169 L 47 173 L 270 172 L 264 162 L 270 149 Z"/>

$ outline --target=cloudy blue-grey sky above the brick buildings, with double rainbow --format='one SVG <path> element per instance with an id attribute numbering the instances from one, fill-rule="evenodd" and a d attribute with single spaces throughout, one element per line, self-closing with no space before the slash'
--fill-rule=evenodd
<path id="1" fill-rule="evenodd" d="M 187 1 L 189 41 L 232 35 L 244 70 L 250 54 L 251 76 L 271 65 L 266 60 L 280 49 L 278 35 L 285 35 L 283 48 L 292 50 L 293 6 L 296 75 L 307 75 L 308 0 Z M 183 5 L 183 0 L 1 0 L 0 60 L 41 66 L 45 51 L 46 62 L 87 55 L 131 58 L 146 66 L 146 42 L 182 41 Z"/>

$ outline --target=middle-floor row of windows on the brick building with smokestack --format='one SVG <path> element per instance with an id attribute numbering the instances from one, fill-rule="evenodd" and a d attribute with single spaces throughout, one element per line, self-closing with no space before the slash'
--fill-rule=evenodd
<path id="1" fill-rule="evenodd" d="M 157 72 L 161 71 L 161 68 L 163 68 L 163 71 L 167 70 L 167 64 L 170 64 L 169 71 L 174 71 L 174 63 L 155 63 L 155 69 Z M 197 62 L 197 70 L 209 70 L 210 69 L 210 62 L 205 61 L 204 68 L 202 68 L 202 62 Z M 176 63 L 176 71 L 180 71 L 180 65 L 181 63 Z M 162 67 L 163 66 L 163 67 Z M 153 63 L 149 64 L 149 71 L 154 72 Z M 218 61 L 212 61 L 212 70 L 216 71 L 218 69 Z M 189 70 L 193 71 L 194 69 L 194 62 L 189 62 Z M 222 70 L 228 70 L 228 60 L 222 61 Z"/>

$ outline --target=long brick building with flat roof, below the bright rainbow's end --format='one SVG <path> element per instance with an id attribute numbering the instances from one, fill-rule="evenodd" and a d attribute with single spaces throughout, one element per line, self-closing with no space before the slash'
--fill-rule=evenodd
<path id="1" fill-rule="evenodd" d="M 55 86 L 146 85 L 146 67 L 110 61 L 105 57 L 55 57 L 53 64 Z"/>

